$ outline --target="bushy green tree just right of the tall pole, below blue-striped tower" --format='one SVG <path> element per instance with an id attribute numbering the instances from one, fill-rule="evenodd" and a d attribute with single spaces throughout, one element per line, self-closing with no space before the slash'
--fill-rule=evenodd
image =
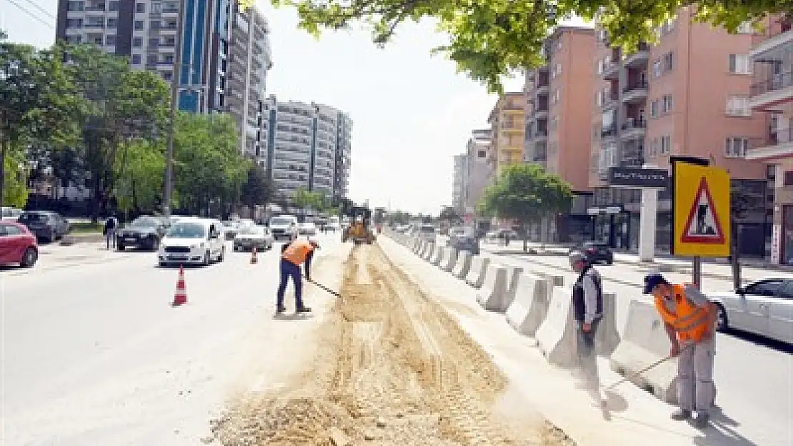
<path id="1" fill-rule="evenodd" d="M 179 112 L 174 138 L 176 208 L 220 213 L 239 197 L 250 162 L 239 154 L 231 116 Z"/>

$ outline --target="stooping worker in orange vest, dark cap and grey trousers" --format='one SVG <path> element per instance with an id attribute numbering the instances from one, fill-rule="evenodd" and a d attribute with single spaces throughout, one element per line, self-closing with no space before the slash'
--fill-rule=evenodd
<path id="1" fill-rule="evenodd" d="M 691 284 L 670 284 L 660 273 L 645 277 L 645 294 L 652 294 L 672 342 L 669 356 L 677 356 L 677 402 L 680 410 L 673 420 L 687 420 L 696 412 L 694 424 L 708 425 L 714 399 L 714 332 L 718 311 Z"/>

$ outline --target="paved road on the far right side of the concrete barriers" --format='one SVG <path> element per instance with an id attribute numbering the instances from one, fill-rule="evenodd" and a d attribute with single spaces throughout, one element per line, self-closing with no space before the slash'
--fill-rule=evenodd
<path id="1" fill-rule="evenodd" d="M 483 244 L 483 255 L 505 265 L 523 267 L 554 276 L 564 276 L 572 284 L 576 275 L 569 260 L 561 255 L 527 255 L 498 253 L 496 245 Z M 703 265 L 703 289 L 708 292 L 730 291 L 730 279 L 723 275 L 724 265 Z M 604 290 L 617 295 L 617 323 L 623 330 L 630 299 L 647 299 L 642 295 L 642 282 L 649 268 L 616 263 L 598 267 L 604 279 Z M 780 276 L 785 273 L 747 269 L 747 276 Z M 669 280 L 690 281 L 690 273 L 665 273 Z M 718 406 L 732 418 L 745 436 L 757 444 L 793 444 L 793 348 L 772 341 L 740 334 L 718 334 L 714 380 L 718 387 Z"/>

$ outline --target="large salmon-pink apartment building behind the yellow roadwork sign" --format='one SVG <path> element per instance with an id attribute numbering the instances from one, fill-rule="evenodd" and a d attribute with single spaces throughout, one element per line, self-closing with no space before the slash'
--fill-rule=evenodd
<path id="1" fill-rule="evenodd" d="M 668 168 L 671 156 L 686 155 L 730 171 L 734 190 L 751 197 L 752 208 L 737 221 L 741 252 L 763 257 L 766 171 L 747 159 L 767 126 L 766 116 L 749 109 L 749 50 L 758 36 L 748 25 L 729 34 L 697 23 L 683 8 L 657 29 L 657 37 L 657 45 L 623 55 L 598 31 L 589 178 L 594 193 L 587 205 L 594 237 L 616 248 L 638 246 L 641 192 L 608 187 L 609 168 Z M 657 248 L 668 250 L 668 190 L 660 193 L 657 218 Z"/>

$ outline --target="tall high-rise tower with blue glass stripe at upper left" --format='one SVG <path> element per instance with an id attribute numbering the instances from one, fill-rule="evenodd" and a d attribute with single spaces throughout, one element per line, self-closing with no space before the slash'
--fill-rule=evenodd
<path id="1" fill-rule="evenodd" d="M 229 112 L 239 125 L 240 151 L 256 158 L 263 145 L 259 113 L 266 71 L 272 66 L 266 20 L 255 7 L 240 11 L 234 0 L 183 1 L 178 38 L 182 0 L 59 0 L 56 38 L 96 44 L 167 82 L 174 78 L 179 44 L 178 108 Z"/>

